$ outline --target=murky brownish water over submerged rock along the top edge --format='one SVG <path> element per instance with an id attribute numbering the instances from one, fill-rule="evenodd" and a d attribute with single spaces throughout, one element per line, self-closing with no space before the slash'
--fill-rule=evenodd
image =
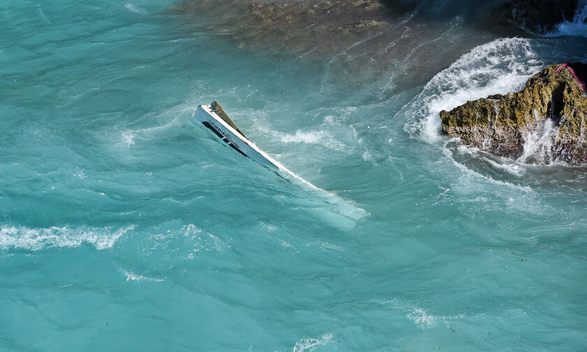
<path id="1" fill-rule="evenodd" d="M 463 31 L 462 17 L 442 17 L 426 2 L 184 0 L 168 13 L 216 34 L 218 43 L 326 61 L 333 80 L 387 81 L 380 88 L 391 91 L 423 84 L 437 68 L 495 37 L 474 28 Z"/>

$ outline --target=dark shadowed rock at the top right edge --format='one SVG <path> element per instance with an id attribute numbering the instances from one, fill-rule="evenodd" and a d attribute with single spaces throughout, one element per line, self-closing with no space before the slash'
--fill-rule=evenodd
<path id="1" fill-rule="evenodd" d="M 572 22 L 577 0 L 511 0 L 503 11 L 506 18 L 520 27 L 546 34 L 560 22 Z"/>

